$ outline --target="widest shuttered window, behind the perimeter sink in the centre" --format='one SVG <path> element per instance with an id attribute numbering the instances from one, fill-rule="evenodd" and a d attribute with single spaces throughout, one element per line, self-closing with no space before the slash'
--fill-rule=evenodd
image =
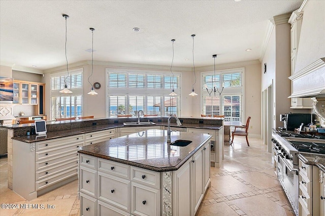
<path id="1" fill-rule="evenodd" d="M 180 74 L 150 71 L 119 72 L 107 69 L 108 117 L 148 115 L 180 116 L 180 94 L 171 97 L 174 86 L 180 89 Z M 178 91 L 180 92 L 180 91 Z M 127 109 L 126 109 L 127 107 Z"/>

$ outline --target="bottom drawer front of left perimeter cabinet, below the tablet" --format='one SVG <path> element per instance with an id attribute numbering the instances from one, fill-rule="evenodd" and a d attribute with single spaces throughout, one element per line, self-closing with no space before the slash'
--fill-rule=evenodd
<path id="1" fill-rule="evenodd" d="M 58 183 L 64 179 L 68 179 L 72 176 L 75 176 L 78 174 L 78 167 L 68 169 L 66 171 L 60 172 L 60 174 L 51 176 L 50 178 L 46 178 L 40 181 L 37 181 L 36 184 L 36 190 L 41 190 L 45 187 L 48 187 L 50 185 L 53 185 L 55 183 Z"/>

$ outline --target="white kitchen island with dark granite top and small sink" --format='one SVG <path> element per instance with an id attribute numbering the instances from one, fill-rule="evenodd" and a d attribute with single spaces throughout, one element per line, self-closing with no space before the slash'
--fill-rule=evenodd
<path id="1" fill-rule="evenodd" d="M 149 129 L 79 149 L 81 215 L 195 215 L 210 185 L 211 135 Z M 182 142 L 184 144 L 184 142 Z"/>

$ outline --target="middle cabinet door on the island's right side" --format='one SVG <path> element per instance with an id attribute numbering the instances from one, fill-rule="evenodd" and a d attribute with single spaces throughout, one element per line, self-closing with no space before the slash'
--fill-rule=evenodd
<path id="1" fill-rule="evenodd" d="M 193 206 L 196 212 L 203 198 L 203 153 L 201 150 L 193 155 L 192 159 L 192 180 L 193 180 Z M 194 213 L 193 213 L 194 215 Z"/>

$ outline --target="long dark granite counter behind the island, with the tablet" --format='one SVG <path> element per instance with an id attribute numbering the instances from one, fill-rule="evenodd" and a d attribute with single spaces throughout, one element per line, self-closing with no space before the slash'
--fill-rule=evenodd
<path id="1" fill-rule="evenodd" d="M 113 123 L 113 124 L 100 124 L 94 125 L 90 127 L 80 127 L 80 128 L 73 128 L 73 129 L 66 129 L 64 131 L 56 131 L 56 132 L 48 132 L 46 136 L 39 136 L 37 135 L 30 135 L 30 136 L 20 136 L 20 137 L 12 137 L 14 140 L 22 141 L 25 143 L 32 143 L 32 142 L 41 142 L 45 140 L 51 140 L 56 138 L 74 136 L 78 134 L 85 134 L 90 132 L 96 131 L 103 131 L 105 129 L 113 129 L 116 127 L 151 127 L 151 126 L 167 126 L 167 122 L 157 122 L 153 125 L 127 125 L 123 126 L 122 123 Z M 171 123 L 171 126 L 177 126 L 176 123 Z M 210 125 L 210 124 L 190 124 L 190 123 L 183 123 L 179 127 L 191 127 L 191 128 L 201 128 L 201 129 L 220 129 L 222 125 Z"/>

